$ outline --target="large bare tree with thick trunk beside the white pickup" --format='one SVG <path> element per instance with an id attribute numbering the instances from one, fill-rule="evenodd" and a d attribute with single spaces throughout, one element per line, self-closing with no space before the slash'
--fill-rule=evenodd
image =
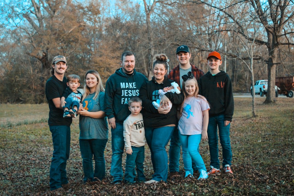
<path id="1" fill-rule="evenodd" d="M 268 65 L 268 93 L 264 103 L 273 103 L 275 98 L 275 77 L 276 67 L 280 64 L 278 48 L 281 45 L 294 45 L 294 40 L 289 39 L 288 35 L 293 34 L 293 16 L 294 6 L 293 2 L 289 0 L 274 0 L 267 1 L 261 4 L 259 0 L 249 0 L 242 2 L 231 2 L 230 5 L 224 5 L 224 2 L 207 2 L 198 0 L 196 3 L 205 4 L 213 9 L 217 9 L 219 12 L 227 16 L 224 22 L 233 22 L 238 27 L 238 32 L 244 36 L 247 40 L 253 40 L 251 36 L 245 34 L 244 26 L 239 23 L 236 18 L 236 9 L 233 9 L 235 5 L 250 3 L 255 9 L 258 17 L 258 22 L 262 24 L 263 30 L 266 32 L 267 40 L 262 38 L 254 40 L 254 43 L 259 45 L 265 45 L 268 49 L 269 58 L 266 60 Z M 221 7 L 221 6 L 222 7 Z M 239 5 L 240 6 L 240 5 Z M 208 16 L 207 16 L 208 17 Z M 283 28 L 285 25 L 289 28 Z"/>

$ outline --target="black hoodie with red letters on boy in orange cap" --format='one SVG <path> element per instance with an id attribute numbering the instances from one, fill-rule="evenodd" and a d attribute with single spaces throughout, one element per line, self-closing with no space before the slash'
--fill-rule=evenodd
<path id="1" fill-rule="evenodd" d="M 234 99 L 229 75 L 224 71 L 214 76 L 207 72 L 200 77 L 198 85 L 199 94 L 210 104 L 209 117 L 224 114 L 224 120 L 232 122 Z"/>

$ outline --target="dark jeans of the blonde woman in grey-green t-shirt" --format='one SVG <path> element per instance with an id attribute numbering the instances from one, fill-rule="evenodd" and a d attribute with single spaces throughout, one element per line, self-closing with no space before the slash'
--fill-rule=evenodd
<path id="1" fill-rule="evenodd" d="M 83 158 L 84 182 L 102 180 L 105 177 L 104 149 L 107 139 L 80 139 L 80 150 Z M 93 155 L 95 172 L 93 171 Z"/>

